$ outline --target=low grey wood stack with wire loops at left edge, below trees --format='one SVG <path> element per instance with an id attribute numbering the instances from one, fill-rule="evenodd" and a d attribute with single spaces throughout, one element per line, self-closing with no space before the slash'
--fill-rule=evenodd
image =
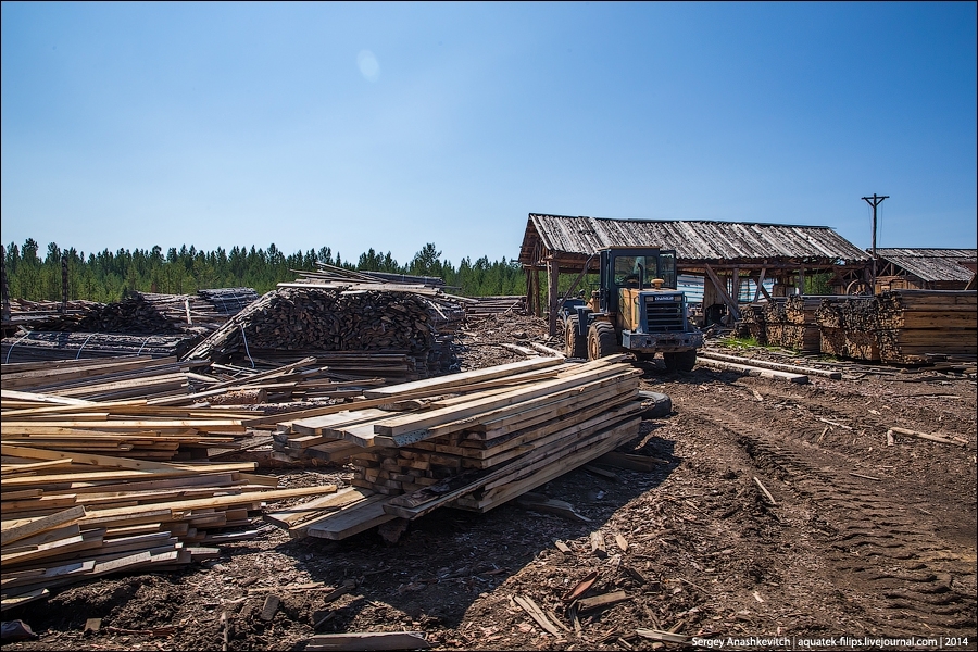
<path id="1" fill-rule="evenodd" d="M 0 361 L 39 362 L 118 355 L 179 358 L 198 339 L 196 335 L 28 331 L 3 338 L 0 342 Z"/>

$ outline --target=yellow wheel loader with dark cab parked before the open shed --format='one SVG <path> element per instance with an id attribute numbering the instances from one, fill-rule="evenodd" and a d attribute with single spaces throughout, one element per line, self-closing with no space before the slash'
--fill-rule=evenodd
<path id="1" fill-rule="evenodd" d="M 676 252 L 607 247 L 594 256 L 598 289 L 589 301 L 567 299 L 561 305 L 567 356 L 597 360 L 627 351 L 652 360 L 662 353 L 666 368 L 691 371 L 703 334 L 689 321 L 685 292 L 676 289 Z"/>

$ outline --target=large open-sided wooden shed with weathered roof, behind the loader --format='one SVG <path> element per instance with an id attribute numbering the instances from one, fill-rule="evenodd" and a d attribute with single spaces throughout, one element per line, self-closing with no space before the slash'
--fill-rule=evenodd
<path id="1" fill-rule="evenodd" d="M 603 247 L 657 246 L 676 250 L 677 271 L 704 277 L 703 305 L 723 305 L 739 318 L 741 284 L 753 283 L 754 300 L 803 293 L 805 276 L 831 274 L 837 293 L 868 284 L 872 258 L 827 226 L 793 226 L 705 220 L 612 220 L 530 213 L 519 250 L 526 272 L 527 309 L 543 313 L 540 275 L 546 274 L 550 331 L 556 333 L 561 274 L 581 274 Z M 598 268 L 597 260 L 588 265 Z"/>

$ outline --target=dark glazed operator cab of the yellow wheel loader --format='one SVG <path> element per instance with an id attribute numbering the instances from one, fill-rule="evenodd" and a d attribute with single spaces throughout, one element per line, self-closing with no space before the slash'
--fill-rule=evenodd
<path id="1" fill-rule="evenodd" d="M 601 250 L 601 312 L 617 314 L 622 289 L 676 289 L 676 252 L 657 247 L 609 247 Z M 653 280 L 662 279 L 662 284 Z"/>

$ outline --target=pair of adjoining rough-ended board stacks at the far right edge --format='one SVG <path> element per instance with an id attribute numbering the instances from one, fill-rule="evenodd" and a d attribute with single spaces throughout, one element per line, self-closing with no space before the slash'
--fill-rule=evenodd
<path id="1" fill-rule="evenodd" d="M 888 364 L 978 353 L 978 292 L 890 290 L 823 302 L 816 311 L 822 351 Z"/>

